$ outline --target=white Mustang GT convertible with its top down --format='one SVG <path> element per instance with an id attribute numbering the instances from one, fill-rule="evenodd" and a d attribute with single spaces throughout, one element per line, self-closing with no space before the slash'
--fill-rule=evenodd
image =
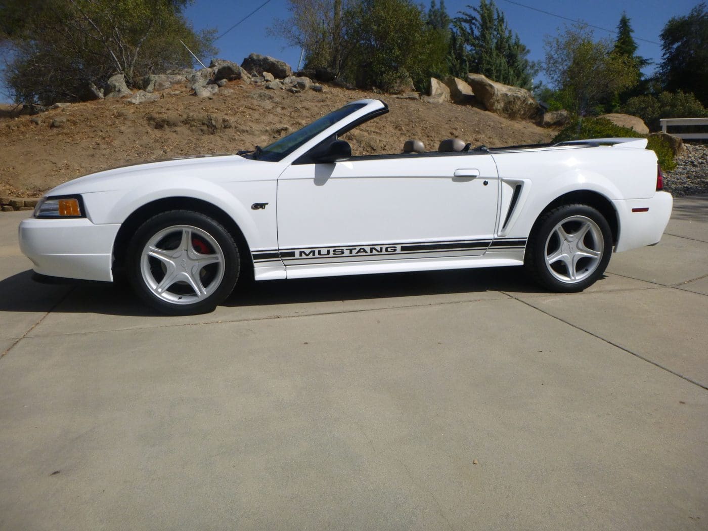
<path id="1" fill-rule="evenodd" d="M 256 280 L 525 265 L 585 289 L 612 249 L 656 244 L 671 213 L 646 139 L 501 148 L 409 140 L 352 155 L 341 137 L 388 112 L 354 101 L 253 152 L 101 171 L 20 224 L 36 273 L 112 281 L 168 314 L 210 312 Z"/>

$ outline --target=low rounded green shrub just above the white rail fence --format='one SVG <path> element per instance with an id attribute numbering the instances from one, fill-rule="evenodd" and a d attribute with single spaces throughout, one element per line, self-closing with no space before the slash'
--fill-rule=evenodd
<path id="1" fill-rule="evenodd" d="M 692 93 L 662 92 L 658 96 L 646 94 L 629 98 L 620 112 L 639 116 L 651 131 L 661 129 L 661 118 L 700 118 L 708 110 Z"/>

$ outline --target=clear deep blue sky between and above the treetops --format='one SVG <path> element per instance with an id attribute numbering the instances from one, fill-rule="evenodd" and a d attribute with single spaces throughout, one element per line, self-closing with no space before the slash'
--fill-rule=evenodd
<path id="1" fill-rule="evenodd" d="M 187 9 L 186 15 L 196 29 L 217 28 L 219 33 L 222 33 L 260 6 L 263 1 L 196 0 Z M 573 20 L 580 18 L 586 23 L 612 30 L 612 34 L 595 30 L 595 38 L 614 37 L 619 17 L 622 16 L 622 11 L 627 11 L 627 16 L 631 19 L 632 28 L 634 28 L 634 37 L 655 42 L 661 42 L 659 33 L 670 17 L 687 14 L 698 3 L 688 0 L 670 2 L 665 0 L 594 0 L 592 2 L 518 0 L 518 2 Z M 427 8 L 430 0 L 426 0 L 423 4 Z M 464 10 L 469 4 L 476 6 L 478 1 L 445 1 L 445 7 L 450 16 L 455 16 L 458 11 Z M 518 33 L 522 42 L 530 48 L 530 58 L 543 59 L 544 35 L 556 33 L 557 28 L 563 28 L 565 21 L 512 4 L 506 0 L 496 0 L 496 4 L 506 15 L 510 28 Z M 287 6 L 287 0 L 270 0 L 261 11 L 224 35 L 216 43 L 220 49 L 219 56 L 241 62 L 249 53 L 258 52 L 278 57 L 288 62 L 293 68 L 297 67 L 300 50 L 287 47 L 286 42 L 268 35 L 268 27 L 272 25 L 274 18 L 287 18 Z M 656 63 L 661 61 L 660 45 L 642 41 L 637 41 L 637 44 L 639 44 L 639 55 L 653 59 Z M 648 70 L 651 72 L 653 67 L 649 67 Z"/>

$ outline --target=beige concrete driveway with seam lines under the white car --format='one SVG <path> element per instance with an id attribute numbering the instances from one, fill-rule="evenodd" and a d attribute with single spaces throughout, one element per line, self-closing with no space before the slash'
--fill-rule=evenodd
<path id="1" fill-rule="evenodd" d="M 0 215 L 0 528 L 708 528 L 708 196 L 578 295 L 517 268 L 39 285 Z"/>

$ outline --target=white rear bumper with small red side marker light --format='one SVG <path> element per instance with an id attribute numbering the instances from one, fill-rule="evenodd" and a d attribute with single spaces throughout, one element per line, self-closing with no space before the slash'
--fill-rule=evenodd
<path id="1" fill-rule="evenodd" d="M 657 192 L 650 199 L 612 201 L 619 217 L 619 236 L 615 251 L 627 251 L 658 244 L 671 217 L 673 198 Z"/>

